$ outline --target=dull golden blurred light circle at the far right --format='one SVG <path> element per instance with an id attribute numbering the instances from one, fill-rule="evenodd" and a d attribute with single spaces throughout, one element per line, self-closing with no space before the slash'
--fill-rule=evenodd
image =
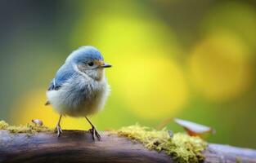
<path id="1" fill-rule="evenodd" d="M 249 86 L 249 49 L 234 33 L 216 30 L 189 58 L 195 89 L 214 101 L 232 99 Z"/>

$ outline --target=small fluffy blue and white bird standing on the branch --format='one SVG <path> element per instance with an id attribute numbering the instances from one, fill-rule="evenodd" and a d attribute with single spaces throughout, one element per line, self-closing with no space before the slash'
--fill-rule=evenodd
<path id="1" fill-rule="evenodd" d="M 88 119 L 100 111 L 110 94 L 110 86 L 105 77 L 106 64 L 101 52 L 93 46 L 81 46 L 73 51 L 65 63 L 59 68 L 47 90 L 47 103 L 60 114 L 56 125 L 57 136 L 62 134 L 61 117 L 85 117 L 92 126 L 89 132 L 92 139 L 101 136 L 95 126 Z"/>

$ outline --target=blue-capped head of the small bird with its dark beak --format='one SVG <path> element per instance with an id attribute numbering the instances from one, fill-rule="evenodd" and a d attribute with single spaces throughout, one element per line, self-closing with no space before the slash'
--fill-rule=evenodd
<path id="1" fill-rule="evenodd" d="M 97 81 L 101 81 L 104 77 L 104 68 L 111 67 L 110 64 L 104 62 L 101 52 L 93 46 L 79 47 L 78 50 L 71 53 L 65 62 L 73 64 L 81 73 L 85 73 Z"/>

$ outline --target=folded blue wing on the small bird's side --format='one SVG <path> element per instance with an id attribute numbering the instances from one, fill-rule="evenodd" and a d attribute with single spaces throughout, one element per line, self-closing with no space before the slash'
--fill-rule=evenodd
<path id="1" fill-rule="evenodd" d="M 59 90 L 65 81 L 73 77 L 74 73 L 72 65 L 63 64 L 57 71 L 56 77 L 52 79 L 48 90 Z"/>

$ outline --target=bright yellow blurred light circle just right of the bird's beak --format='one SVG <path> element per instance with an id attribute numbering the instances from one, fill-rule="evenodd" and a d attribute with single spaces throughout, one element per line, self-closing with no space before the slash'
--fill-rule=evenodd
<path id="1" fill-rule="evenodd" d="M 139 55 L 126 58 L 126 65 L 116 70 L 112 84 L 138 116 L 170 117 L 186 104 L 186 82 L 173 60 Z"/>

